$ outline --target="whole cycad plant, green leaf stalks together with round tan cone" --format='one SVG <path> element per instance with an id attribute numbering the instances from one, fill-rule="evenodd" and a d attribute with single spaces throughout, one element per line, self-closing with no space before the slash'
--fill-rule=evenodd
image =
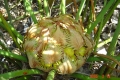
<path id="1" fill-rule="evenodd" d="M 104 0 L 103 8 L 97 15 L 95 6 L 98 1 L 96 0 L 37 0 L 37 12 L 33 10 L 32 1 L 20 0 L 19 2 L 24 3 L 25 14 L 22 17 L 12 19 L 7 0 L 4 0 L 4 7 L 8 14 L 8 21 L 3 13 L 0 13 L 0 28 L 7 31 L 16 48 L 20 50 L 19 54 L 13 53 L 5 45 L 2 33 L 0 34 L 0 55 L 2 60 L 7 61 L 3 62 L 5 61 L 3 60 L 0 63 L 6 69 L 0 74 L 1 80 L 30 80 L 35 75 L 53 80 L 55 74 L 81 80 L 119 79 L 111 74 L 113 71 L 120 71 L 116 69 L 120 66 L 119 54 L 116 56 L 115 53 L 117 40 L 120 37 L 120 20 L 112 39 L 108 38 L 101 43 L 99 40 L 105 24 L 111 18 L 120 0 Z M 39 19 L 36 18 L 37 14 L 40 14 Z M 32 18 L 33 24 L 23 36 L 14 28 L 13 23 L 26 16 Z M 109 42 L 107 55 L 97 54 L 98 48 Z M 95 75 L 86 75 L 79 71 L 76 73 L 85 63 L 99 61 L 107 65 L 102 64 Z M 15 69 L 10 70 L 6 63 L 11 63 Z M 91 67 L 92 64 L 89 65 L 89 68 Z M 47 78 L 44 76 L 46 72 Z M 106 77 L 108 74 L 109 77 Z"/>

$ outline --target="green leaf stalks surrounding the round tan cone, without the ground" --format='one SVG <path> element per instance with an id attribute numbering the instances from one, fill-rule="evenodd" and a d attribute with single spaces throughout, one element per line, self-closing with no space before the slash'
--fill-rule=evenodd
<path id="1" fill-rule="evenodd" d="M 99 71 L 96 73 L 97 78 L 91 77 L 90 75 L 82 74 L 82 73 L 73 73 L 69 76 L 78 78 L 80 80 L 118 80 L 119 77 L 112 76 L 112 72 L 120 72 L 120 70 L 116 69 L 116 66 L 120 67 L 120 53 L 116 55 L 116 45 L 118 38 L 120 39 L 120 13 L 118 17 L 118 24 L 116 25 L 116 30 L 110 38 L 99 42 L 100 34 L 105 27 L 105 24 L 111 19 L 111 16 L 120 3 L 120 0 L 103 0 L 104 6 L 99 13 L 95 13 L 95 6 L 97 4 L 97 0 L 61 0 L 61 2 L 57 5 L 53 5 L 52 3 L 56 0 L 37 0 L 38 2 L 38 10 L 34 11 L 32 7 L 31 0 L 17 0 L 23 1 L 24 3 L 24 10 L 25 14 L 22 16 L 13 19 L 10 13 L 10 8 L 8 6 L 8 0 L 4 0 L 4 8 L 8 14 L 8 20 L 5 19 L 3 16 L 4 14 L 0 11 L 0 29 L 5 30 L 10 37 L 12 38 L 13 42 L 21 52 L 21 54 L 15 54 L 6 46 L 1 40 L 5 42 L 5 38 L 0 32 L 0 57 L 5 58 L 6 60 L 10 61 L 17 67 L 17 70 L 10 70 L 9 65 L 5 64 L 4 62 L 0 62 L 0 65 L 6 69 L 6 72 L 0 74 L 0 80 L 8 80 L 15 78 L 15 80 L 29 80 L 32 75 L 46 75 L 45 72 L 38 70 L 38 69 L 31 69 L 28 67 L 28 57 L 26 56 L 22 43 L 24 41 L 24 36 L 21 35 L 14 27 L 14 22 L 26 18 L 29 16 L 32 18 L 34 24 L 38 23 L 37 14 L 40 14 L 40 17 L 53 17 L 56 15 L 61 14 L 70 14 L 74 17 L 76 22 L 79 22 L 84 27 L 84 31 L 88 34 L 92 34 L 94 36 L 94 49 L 90 57 L 86 60 L 86 62 L 99 62 L 104 61 L 105 64 L 102 65 Z M 74 6 L 74 10 L 68 11 L 68 5 L 72 4 Z M 78 5 L 77 5 L 78 4 Z M 22 5 L 22 4 L 21 4 Z M 76 7 L 77 6 L 77 7 Z M 89 12 L 88 12 L 89 8 Z M 58 10 L 56 15 L 52 14 L 52 10 Z M 89 14 L 87 14 L 89 13 Z M 95 30 L 95 28 L 97 30 Z M 5 42 L 6 43 L 6 42 Z M 104 54 L 97 54 L 97 49 L 109 43 L 107 55 Z M 66 53 L 68 51 L 72 51 L 72 49 L 66 49 Z M 85 52 L 84 48 L 81 50 L 80 53 L 83 55 Z M 70 52 L 72 53 L 72 52 Z M 69 54 L 69 53 L 67 53 Z M 73 54 L 69 54 L 70 56 Z M 96 57 L 97 56 L 97 57 Z M 0 59 L 1 60 L 1 59 Z M 27 67 L 26 67 L 27 66 Z M 90 65 L 90 67 L 92 64 Z M 108 68 L 108 69 L 107 69 Z M 106 70 L 107 69 L 107 70 Z M 47 80 L 54 80 L 56 71 L 51 70 L 48 73 Z M 107 74 L 110 74 L 110 78 L 106 77 Z M 102 75 L 105 75 L 103 78 Z"/>

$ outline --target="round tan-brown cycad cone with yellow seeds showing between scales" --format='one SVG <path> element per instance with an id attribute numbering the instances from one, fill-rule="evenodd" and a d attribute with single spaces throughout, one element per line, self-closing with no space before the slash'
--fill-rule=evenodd
<path id="1" fill-rule="evenodd" d="M 93 43 L 79 23 L 69 15 L 60 15 L 32 25 L 23 47 L 31 68 L 70 74 L 85 63 Z"/>

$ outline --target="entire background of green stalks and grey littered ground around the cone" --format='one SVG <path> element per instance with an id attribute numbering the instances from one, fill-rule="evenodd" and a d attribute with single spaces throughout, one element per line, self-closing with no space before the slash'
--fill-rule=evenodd
<path id="1" fill-rule="evenodd" d="M 120 0 L 0 0 L 0 79 L 44 80 L 50 75 L 55 77 L 54 71 L 47 76 L 48 73 L 30 69 L 22 42 L 32 23 L 42 17 L 60 14 L 73 15 L 86 33 L 91 34 L 95 48 L 80 70 L 71 75 L 56 74 L 55 79 L 119 79 L 119 3 Z M 99 77 L 91 78 L 91 74 Z M 107 74 L 111 76 L 109 79 L 102 78 Z"/>

